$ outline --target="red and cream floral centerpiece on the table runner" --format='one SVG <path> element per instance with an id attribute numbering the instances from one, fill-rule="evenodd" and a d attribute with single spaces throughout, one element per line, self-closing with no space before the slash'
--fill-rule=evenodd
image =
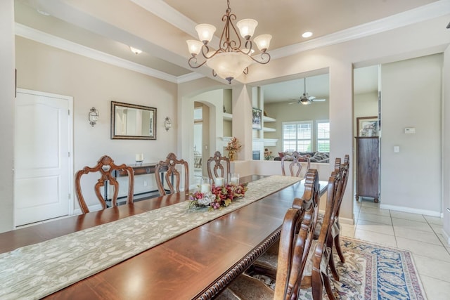
<path id="1" fill-rule="evenodd" d="M 233 200 L 244 197 L 247 183 L 213 185 L 210 192 L 197 191 L 189 195 L 189 209 L 195 207 L 210 207 L 210 210 L 227 207 Z"/>

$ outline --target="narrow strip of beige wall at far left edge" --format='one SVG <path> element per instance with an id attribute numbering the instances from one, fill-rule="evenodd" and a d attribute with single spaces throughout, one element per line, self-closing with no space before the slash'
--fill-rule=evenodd
<path id="1" fill-rule="evenodd" d="M 14 1 L 0 1 L 0 233 L 13 229 Z"/>

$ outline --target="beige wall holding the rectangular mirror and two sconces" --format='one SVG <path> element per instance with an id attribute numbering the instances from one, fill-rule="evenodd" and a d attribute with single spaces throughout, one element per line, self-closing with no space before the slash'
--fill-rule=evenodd
<path id="1" fill-rule="evenodd" d="M 164 129 L 165 117 L 176 120 L 176 84 L 21 37 L 16 37 L 15 43 L 18 87 L 74 98 L 75 171 L 94 166 L 102 155 L 110 155 L 117 164 L 134 164 L 136 153 L 143 153 L 147 163 L 158 162 L 167 153 L 176 152 L 176 122 L 169 131 Z M 111 100 L 156 107 L 157 140 L 110 139 Z M 100 112 L 94 127 L 87 119 L 92 106 Z M 144 183 L 137 179 L 136 185 L 139 184 Z M 89 204 L 97 202 L 91 198 Z"/>

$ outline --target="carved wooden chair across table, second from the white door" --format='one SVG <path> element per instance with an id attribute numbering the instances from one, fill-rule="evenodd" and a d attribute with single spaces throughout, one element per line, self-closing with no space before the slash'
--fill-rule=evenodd
<path id="1" fill-rule="evenodd" d="M 181 171 L 181 172 L 180 172 Z M 166 186 L 163 184 L 161 175 Z M 180 192 L 182 177 L 184 176 L 184 190 L 189 189 L 189 167 L 184 159 L 177 159 L 172 152 L 165 160 L 161 160 L 155 166 L 155 179 L 161 196 Z"/>

